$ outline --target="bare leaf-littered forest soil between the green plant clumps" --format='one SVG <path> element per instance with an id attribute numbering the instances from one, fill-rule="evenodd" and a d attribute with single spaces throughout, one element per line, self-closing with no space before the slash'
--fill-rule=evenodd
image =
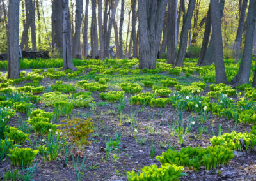
<path id="1" fill-rule="evenodd" d="M 29 72 L 29 71 L 28 71 Z M 161 73 L 166 77 L 177 78 L 177 81 L 182 85 L 191 85 L 192 82 L 202 81 L 198 74 L 194 74 L 186 78 L 182 73 L 179 76 Z M 128 80 L 129 78 L 140 79 L 141 75 L 129 77 L 122 75 L 127 79 L 119 79 L 119 76 L 109 76 L 107 91 L 121 91 L 118 83 L 136 82 L 141 84 L 141 81 Z M 84 89 L 77 87 L 78 80 L 88 80 L 93 82 L 93 76 L 84 78 L 60 78 L 64 83 L 75 85 L 76 92 L 84 92 Z M 58 80 L 58 81 L 59 81 Z M 15 85 L 22 87 L 25 82 Z M 56 80 L 44 78 L 40 82 L 40 86 L 45 86 L 45 90 L 51 91 L 51 85 L 54 85 Z M 143 86 L 142 86 L 143 87 Z M 44 91 L 47 92 L 47 91 Z M 153 92 L 152 88 L 143 87 L 142 92 Z M 205 96 L 209 92 L 209 87 L 202 92 L 201 96 Z M 43 93 L 42 93 L 43 94 Z M 42 94 L 38 94 L 42 96 Z M 197 147 L 203 148 L 211 146 L 210 139 L 218 134 L 230 133 L 231 131 L 244 132 L 250 131 L 251 126 L 246 124 L 235 124 L 234 120 L 227 120 L 225 117 L 219 118 L 217 115 L 209 113 L 209 119 L 205 122 L 205 127 L 202 136 L 199 136 L 198 125 L 191 127 L 190 133 L 184 137 L 184 143 L 180 145 L 177 136 L 170 129 L 170 125 L 174 120 L 179 119 L 177 110 L 172 105 L 166 105 L 165 108 L 156 108 L 150 106 L 132 105 L 129 104 L 129 99 L 133 94 L 125 93 L 125 106 L 122 112 L 122 124 L 120 124 L 120 113 L 117 112 L 118 103 L 104 103 L 100 99 L 99 92 L 92 92 L 95 106 L 90 108 L 74 108 L 71 117 L 83 117 L 90 115 L 93 121 L 93 133 L 88 140 L 92 141 L 91 145 L 86 146 L 84 155 L 86 156 L 86 170 L 82 180 L 127 180 L 127 171 L 140 171 L 143 166 L 160 163 L 155 159 L 157 155 L 168 150 L 168 148 L 176 148 L 180 150 L 182 147 Z M 230 98 L 236 99 L 236 96 Z M 40 108 L 47 112 L 54 112 L 53 107 L 45 107 L 44 103 L 35 103 L 35 108 Z M 131 124 L 131 117 L 135 120 L 134 125 Z M 187 122 L 191 117 L 196 117 L 195 112 L 186 111 L 183 114 L 183 120 Z M 68 117 L 61 116 L 56 124 L 63 124 L 61 120 Z M 9 126 L 19 127 L 21 120 L 26 120 L 26 113 L 20 113 L 19 117 L 15 115 Z M 221 129 L 220 129 L 221 126 Z M 221 131 L 221 133 L 220 133 Z M 110 152 L 106 159 L 106 140 L 116 137 L 121 138 L 119 148 Z M 35 145 L 44 145 L 44 136 L 36 136 L 33 131 L 29 134 L 29 139 L 22 147 L 35 148 Z M 154 157 L 150 157 L 152 145 L 155 147 Z M 152 152 L 151 152 L 152 153 Z M 184 173 L 188 175 L 181 177 L 180 180 L 256 180 L 256 153 L 255 152 L 239 152 L 234 151 L 234 159 L 228 165 L 221 165 L 214 170 L 205 170 L 204 166 L 199 171 L 193 171 L 189 168 L 184 168 Z M 79 159 L 81 163 L 82 159 Z M 36 156 L 37 162 L 34 175 L 35 180 L 76 180 L 76 171 L 74 170 L 72 157 L 68 157 L 68 162 L 64 162 L 64 153 L 58 157 L 56 161 L 48 161 L 42 155 Z M 10 159 L 4 159 L 0 162 L 0 178 L 8 170 L 14 170 Z"/>

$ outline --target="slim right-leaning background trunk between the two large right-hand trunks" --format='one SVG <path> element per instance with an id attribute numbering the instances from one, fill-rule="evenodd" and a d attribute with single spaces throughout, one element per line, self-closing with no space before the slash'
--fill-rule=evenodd
<path id="1" fill-rule="evenodd" d="M 244 28 L 244 19 L 245 19 L 245 13 L 246 13 L 246 7 L 247 7 L 248 0 L 243 0 L 243 4 L 241 6 L 241 12 L 239 13 L 239 25 L 237 28 L 236 33 L 236 40 L 234 43 L 234 57 L 236 59 L 240 58 L 240 47 L 241 47 L 241 39 L 243 35 L 243 28 Z"/>

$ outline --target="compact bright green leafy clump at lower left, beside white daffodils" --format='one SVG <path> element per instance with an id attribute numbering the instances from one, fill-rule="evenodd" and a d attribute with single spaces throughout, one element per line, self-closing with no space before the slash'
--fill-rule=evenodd
<path id="1" fill-rule="evenodd" d="M 7 154 L 7 156 L 10 157 L 14 166 L 27 166 L 31 164 L 37 154 L 38 150 L 32 150 L 31 148 L 13 148 L 10 149 L 10 154 Z"/>

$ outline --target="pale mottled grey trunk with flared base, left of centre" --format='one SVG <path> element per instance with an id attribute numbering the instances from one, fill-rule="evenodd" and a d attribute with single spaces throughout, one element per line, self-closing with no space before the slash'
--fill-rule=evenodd
<path id="1" fill-rule="evenodd" d="M 68 8 L 68 0 L 62 0 L 63 12 L 63 69 L 77 70 L 72 62 L 72 48 L 71 48 L 71 24 L 70 13 Z"/>

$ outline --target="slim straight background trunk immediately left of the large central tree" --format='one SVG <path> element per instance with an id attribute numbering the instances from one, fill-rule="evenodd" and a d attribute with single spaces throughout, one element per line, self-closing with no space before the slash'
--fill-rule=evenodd
<path id="1" fill-rule="evenodd" d="M 136 54 L 136 50 L 137 50 L 137 40 L 136 40 L 136 0 L 132 0 L 132 42 L 133 42 L 133 49 L 132 49 L 132 53 L 133 53 L 133 57 L 138 57 L 138 54 Z"/>

